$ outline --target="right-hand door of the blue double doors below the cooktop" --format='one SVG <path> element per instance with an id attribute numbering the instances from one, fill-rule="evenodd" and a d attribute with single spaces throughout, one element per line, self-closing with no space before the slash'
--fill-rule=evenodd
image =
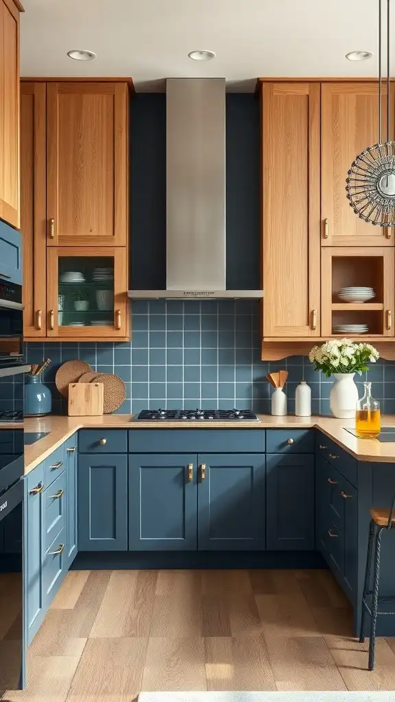
<path id="1" fill-rule="evenodd" d="M 265 548 L 265 456 L 197 456 L 199 550 Z"/>

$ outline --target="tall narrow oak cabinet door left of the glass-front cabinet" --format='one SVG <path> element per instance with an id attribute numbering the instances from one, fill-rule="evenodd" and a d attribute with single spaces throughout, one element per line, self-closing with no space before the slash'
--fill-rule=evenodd
<path id="1" fill-rule="evenodd" d="M 46 84 L 20 85 L 23 333 L 46 336 Z"/>

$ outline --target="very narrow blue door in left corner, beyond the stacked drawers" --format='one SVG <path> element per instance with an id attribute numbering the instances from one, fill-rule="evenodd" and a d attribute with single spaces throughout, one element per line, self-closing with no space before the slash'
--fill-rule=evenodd
<path id="1" fill-rule="evenodd" d="M 65 442 L 66 484 L 66 555 L 65 564 L 70 568 L 77 555 L 77 435 Z"/>

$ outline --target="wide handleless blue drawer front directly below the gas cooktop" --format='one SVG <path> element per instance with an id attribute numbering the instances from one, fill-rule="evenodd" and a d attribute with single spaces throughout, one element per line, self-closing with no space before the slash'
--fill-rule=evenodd
<path id="1" fill-rule="evenodd" d="M 264 429 L 129 430 L 129 453 L 264 452 Z"/>

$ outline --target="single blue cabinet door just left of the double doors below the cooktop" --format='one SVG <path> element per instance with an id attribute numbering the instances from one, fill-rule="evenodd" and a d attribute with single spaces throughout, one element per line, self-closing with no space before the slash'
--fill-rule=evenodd
<path id="1" fill-rule="evenodd" d="M 127 455 L 78 456 L 80 551 L 127 550 Z"/>

